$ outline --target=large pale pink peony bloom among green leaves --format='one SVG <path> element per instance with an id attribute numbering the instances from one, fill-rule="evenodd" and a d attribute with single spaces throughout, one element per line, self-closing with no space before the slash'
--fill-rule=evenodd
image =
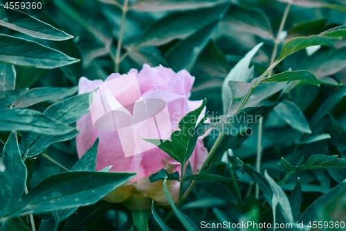
<path id="1" fill-rule="evenodd" d="M 129 77 L 134 77 L 134 74 L 136 78 Z M 127 184 L 106 196 L 105 200 L 112 203 L 120 203 L 131 196 L 140 195 L 152 198 L 157 203 L 167 204 L 163 194 L 162 181 L 150 183 L 149 176 L 162 168 L 165 168 L 169 173 L 174 171 L 180 172 L 181 166 L 179 162 L 172 160 L 171 157 L 156 146 L 143 149 L 145 151 L 139 154 L 134 153 L 137 155 L 127 154 L 126 157 L 125 152 L 127 152 L 127 149 L 130 148 L 132 151 L 136 149 L 133 148 L 133 145 L 137 144 L 136 139 L 129 135 L 130 133 L 126 133 L 127 136 L 124 139 L 123 132 L 118 128 L 118 124 L 114 126 L 114 123 L 111 123 L 114 119 L 113 117 L 118 117 L 117 114 L 109 117 L 110 119 L 102 119 L 104 114 L 103 108 L 114 110 L 114 105 L 122 106 L 122 111 L 119 113 L 127 121 L 131 117 L 138 116 L 139 112 L 134 109 L 136 108 L 136 103 L 143 102 L 145 99 L 161 99 L 167 105 L 170 119 L 165 119 L 164 122 L 161 121 L 159 123 L 165 123 L 163 126 L 166 127 L 168 125 L 168 135 L 170 135 L 174 130 L 178 130 L 178 123 L 181 118 L 188 112 L 199 108 L 202 103 L 202 101 L 190 101 L 188 99 L 193 83 L 194 77 L 188 71 L 182 70 L 175 73 L 169 68 L 162 66 L 150 67 L 149 65 L 143 65 L 143 69 L 139 73 L 136 69 L 131 69 L 127 75 L 111 74 L 105 81 L 80 78 L 79 94 L 91 92 L 96 87 L 99 87 L 100 94 L 104 94 L 104 97 L 107 99 L 103 98 L 101 101 L 98 101 L 94 94 L 93 104 L 90 108 L 91 112 L 85 114 L 77 121 L 77 127 L 80 130 L 77 136 L 78 156 L 82 157 L 86 150 L 93 145 L 95 139 L 100 137 L 96 165 L 97 171 L 112 165 L 110 171 L 113 172 L 137 173 Z M 104 86 L 106 87 L 104 88 Z M 109 90 L 103 91 L 102 87 Z M 203 111 L 201 116 L 204 113 Z M 96 119 L 98 121 L 95 121 Z M 158 132 L 158 128 L 149 126 L 149 123 L 143 123 L 137 126 L 137 129 L 140 133 L 139 136 L 143 138 Z M 140 141 L 143 141 L 143 139 L 140 139 Z M 207 150 L 203 146 L 202 138 L 200 137 L 189 160 L 194 173 L 197 172 L 197 169 L 206 160 L 207 154 Z M 170 194 L 175 201 L 179 198 L 179 184 L 177 181 L 169 181 L 168 184 Z"/>

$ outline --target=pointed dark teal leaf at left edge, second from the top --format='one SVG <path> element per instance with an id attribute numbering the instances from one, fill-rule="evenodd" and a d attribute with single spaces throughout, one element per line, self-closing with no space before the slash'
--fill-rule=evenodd
<path id="1" fill-rule="evenodd" d="M 55 49 L 19 37 L 0 34 L 0 62 L 53 69 L 79 62 Z"/>

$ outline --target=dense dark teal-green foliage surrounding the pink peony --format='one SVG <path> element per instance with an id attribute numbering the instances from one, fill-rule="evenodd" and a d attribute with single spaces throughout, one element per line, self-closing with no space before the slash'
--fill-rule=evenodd
<path id="1" fill-rule="evenodd" d="M 191 99 L 206 97 L 210 114 L 264 115 L 246 124 L 250 137 L 216 140 L 228 125 L 217 123 L 204 139 L 212 176 L 186 178 L 195 187 L 165 223 L 170 208 L 153 204 L 149 230 L 345 221 L 345 14 L 343 0 L 59 0 L 11 21 L 0 6 L 0 228 L 135 229 L 129 209 L 100 200 L 132 175 L 95 172 L 98 141 L 78 160 L 75 121 L 89 99 L 74 95 L 81 76 L 144 63 L 190 71 Z"/>

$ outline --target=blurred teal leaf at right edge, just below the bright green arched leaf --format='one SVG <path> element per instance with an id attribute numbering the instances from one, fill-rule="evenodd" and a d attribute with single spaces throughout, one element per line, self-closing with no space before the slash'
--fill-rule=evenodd
<path id="1" fill-rule="evenodd" d="M 313 53 L 300 62 L 299 69 L 311 71 L 317 78 L 330 76 L 346 67 L 346 46 Z"/>

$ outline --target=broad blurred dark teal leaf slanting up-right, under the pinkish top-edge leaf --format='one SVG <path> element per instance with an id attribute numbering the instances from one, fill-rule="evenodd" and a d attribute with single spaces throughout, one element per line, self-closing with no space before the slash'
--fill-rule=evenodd
<path id="1" fill-rule="evenodd" d="M 167 15 L 147 28 L 138 46 L 157 46 L 175 39 L 188 37 L 215 19 L 218 19 L 225 11 L 227 5 L 174 12 Z"/>

